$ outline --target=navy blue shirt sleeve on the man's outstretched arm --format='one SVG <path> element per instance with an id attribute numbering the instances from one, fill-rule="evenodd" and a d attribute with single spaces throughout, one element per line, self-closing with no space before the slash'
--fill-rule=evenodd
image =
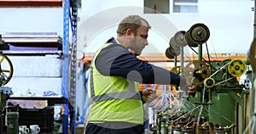
<path id="1" fill-rule="evenodd" d="M 113 44 L 104 47 L 96 58 L 96 69 L 102 75 L 122 76 L 131 81 L 144 84 L 179 86 L 179 75 L 137 59 L 129 53 L 127 48 L 117 44 L 113 38 L 108 40 L 108 42 Z"/>

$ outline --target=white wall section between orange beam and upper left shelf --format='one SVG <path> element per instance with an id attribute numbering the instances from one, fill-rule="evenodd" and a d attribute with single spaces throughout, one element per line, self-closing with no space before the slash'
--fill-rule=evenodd
<path id="1" fill-rule="evenodd" d="M 0 8 L 0 33 L 56 32 L 62 36 L 63 9 L 60 8 Z"/>

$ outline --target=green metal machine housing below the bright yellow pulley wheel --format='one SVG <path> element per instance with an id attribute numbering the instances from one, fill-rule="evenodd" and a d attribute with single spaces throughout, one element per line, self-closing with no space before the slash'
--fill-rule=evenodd
<path id="1" fill-rule="evenodd" d="M 219 70 L 221 67 L 227 66 L 231 59 L 224 60 L 223 62 L 213 62 L 212 72 Z M 209 107 L 210 121 L 219 126 L 230 126 L 236 122 L 236 103 L 240 104 L 242 98 L 236 98 L 236 93 L 242 93 L 242 87 L 236 80 L 236 77 L 229 75 L 226 67 L 219 70 L 212 78 L 216 83 L 225 81 L 212 90 L 212 105 Z"/>

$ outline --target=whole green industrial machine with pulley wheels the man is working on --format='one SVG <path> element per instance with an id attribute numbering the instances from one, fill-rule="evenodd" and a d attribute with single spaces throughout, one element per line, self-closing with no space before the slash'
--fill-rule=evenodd
<path id="1" fill-rule="evenodd" d="M 198 23 L 192 25 L 189 31 L 177 31 L 171 38 L 166 57 L 177 62 L 180 55 L 181 61 L 181 65 L 171 71 L 185 76 L 196 86 L 197 93 L 191 97 L 179 92 L 176 98 L 166 98 L 169 99 L 166 105 L 154 108 L 154 123 L 150 126 L 152 133 L 235 134 L 245 129 L 244 96 L 249 92 L 247 82 L 250 81 L 240 82 L 238 78 L 247 73 L 247 64 L 241 59 L 203 59 L 203 43 L 209 36 L 207 25 Z M 183 47 L 186 45 L 192 50 L 198 47 L 198 52 L 194 50 L 198 59 L 184 65 Z M 162 98 L 164 96 L 173 96 L 172 90 L 163 92 Z M 175 99 L 179 108 L 174 110 L 172 102 Z M 237 109 L 238 106 L 241 110 Z M 241 118 L 237 114 L 241 114 Z"/>

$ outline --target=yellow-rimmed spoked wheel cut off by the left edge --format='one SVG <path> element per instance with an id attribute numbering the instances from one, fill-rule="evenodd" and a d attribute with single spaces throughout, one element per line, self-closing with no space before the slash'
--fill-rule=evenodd
<path id="1" fill-rule="evenodd" d="M 9 58 L 0 53 L 0 86 L 3 86 L 9 82 L 13 76 L 13 64 Z"/>

